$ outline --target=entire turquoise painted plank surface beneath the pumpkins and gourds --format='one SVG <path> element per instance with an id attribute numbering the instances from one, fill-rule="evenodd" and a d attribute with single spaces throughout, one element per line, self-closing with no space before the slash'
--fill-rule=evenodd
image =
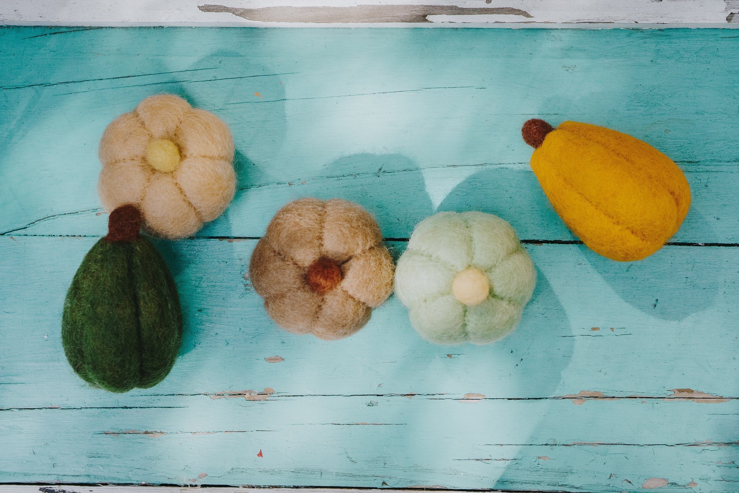
<path id="1" fill-rule="evenodd" d="M 0 482 L 738 489 L 736 246 L 622 264 L 528 242 L 534 297 L 483 347 L 423 341 L 395 298 L 349 339 L 293 336 L 245 273 L 274 212 L 310 195 L 361 203 L 392 239 L 470 209 L 523 239 L 574 239 L 528 168 L 519 129 L 534 116 L 653 144 L 692 189 L 672 242 L 738 243 L 739 38 L 57 31 L 0 30 Z M 239 191 L 196 238 L 156 242 L 183 348 L 162 384 L 113 395 L 72 373 L 61 309 L 106 231 L 103 129 L 158 92 L 231 126 Z"/>

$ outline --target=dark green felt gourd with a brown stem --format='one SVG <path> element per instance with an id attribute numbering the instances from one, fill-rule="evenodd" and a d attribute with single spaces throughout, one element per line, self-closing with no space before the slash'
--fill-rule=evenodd
<path id="1" fill-rule="evenodd" d="M 134 205 L 112 211 L 108 236 L 87 253 L 64 302 L 67 361 L 93 387 L 111 392 L 158 384 L 182 342 L 177 286 L 139 228 Z"/>

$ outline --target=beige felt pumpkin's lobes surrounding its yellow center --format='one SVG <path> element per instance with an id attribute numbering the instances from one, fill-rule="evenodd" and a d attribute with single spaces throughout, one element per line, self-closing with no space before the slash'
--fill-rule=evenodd
<path id="1" fill-rule="evenodd" d="M 158 171 L 147 161 L 154 140 L 177 147 L 180 162 L 173 171 Z M 143 227 L 159 237 L 195 234 L 225 210 L 236 191 L 228 126 L 175 95 L 146 98 L 113 120 L 103 132 L 98 156 L 103 163 L 98 194 L 106 211 L 137 205 Z"/>

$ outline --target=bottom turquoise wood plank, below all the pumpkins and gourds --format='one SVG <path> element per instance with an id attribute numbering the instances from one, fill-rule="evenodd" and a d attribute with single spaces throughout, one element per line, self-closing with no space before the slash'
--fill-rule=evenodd
<path id="1" fill-rule="evenodd" d="M 739 481 L 737 401 L 621 400 L 593 409 L 567 401 L 197 396 L 171 404 L 3 412 L 4 479 L 572 492 L 642 491 L 651 478 L 664 478 L 661 491 L 734 492 Z"/>

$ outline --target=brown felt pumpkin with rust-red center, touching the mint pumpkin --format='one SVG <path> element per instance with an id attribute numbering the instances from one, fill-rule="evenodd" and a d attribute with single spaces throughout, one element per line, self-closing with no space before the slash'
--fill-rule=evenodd
<path id="1" fill-rule="evenodd" d="M 285 330 L 324 340 L 364 327 L 372 308 L 390 296 L 393 271 L 377 222 L 360 205 L 341 199 L 285 205 L 249 265 L 269 316 Z"/>

